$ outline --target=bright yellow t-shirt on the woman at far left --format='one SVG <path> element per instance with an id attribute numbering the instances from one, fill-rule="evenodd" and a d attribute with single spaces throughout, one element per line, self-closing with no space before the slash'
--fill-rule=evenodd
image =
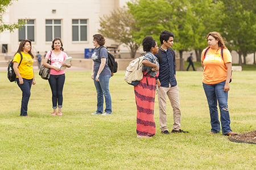
<path id="1" fill-rule="evenodd" d="M 32 79 L 33 76 L 34 76 L 34 73 L 33 73 L 33 68 L 32 68 L 32 65 L 33 65 L 33 58 L 30 56 L 30 54 L 25 54 L 23 52 L 20 52 L 22 53 L 22 62 L 20 63 L 19 67 L 18 67 L 18 70 L 19 70 L 19 74 L 22 78 L 25 78 L 25 79 Z M 13 59 L 13 62 L 20 62 L 20 54 L 19 53 L 16 53 L 15 56 L 14 56 L 14 59 Z M 16 78 L 18 78 L 18 76 L 16 76 Z"/>

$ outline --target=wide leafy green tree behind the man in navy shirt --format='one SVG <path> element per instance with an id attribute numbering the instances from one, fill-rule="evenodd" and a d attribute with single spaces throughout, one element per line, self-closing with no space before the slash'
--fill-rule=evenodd
<path id="1" fill-rule="evenodd" d="M 164 29 L 174 33 L 173 48 L 183 59 L 183 52 L 196 50 L 197 61 L 200 61 L 201 51 L 207 46 L 207 33 L 219 31 L 218 20 L 221 2 L 213 0 L 137 0 L 128 2 L 130 12 L 138 20 L 141 31 L 134 31 L 137 41 L 151 35 L 158 40 Z M 184 70 L 180 65 L 180 70 Z"/>

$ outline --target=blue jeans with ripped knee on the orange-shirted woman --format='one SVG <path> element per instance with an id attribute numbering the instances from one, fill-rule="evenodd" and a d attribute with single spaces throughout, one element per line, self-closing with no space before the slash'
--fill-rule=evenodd
<path id="1" fill-rule="evenodd" d="M 220 108 L 220 120 L 222 134 L 229 133 L 232 131 L 230 129 L 230 117 L 228 109 L 228 92 L 224 91 L 225 82 L 220 82 L 217 84 L 204 84 L 204 92 L 207 96 L 207 101 L 210 109 L 210 125 L 212 125 L 213 133 L 220 132 L 220 121 L 218 121 L 218 107 Z"/>

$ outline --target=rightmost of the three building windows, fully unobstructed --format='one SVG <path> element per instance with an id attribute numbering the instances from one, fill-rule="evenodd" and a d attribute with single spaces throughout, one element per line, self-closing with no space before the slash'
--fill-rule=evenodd
<path id="1" fill-rule="evenodd" d="M 86 19 L 72 19 L 72 41 L 87 41 Z"/>

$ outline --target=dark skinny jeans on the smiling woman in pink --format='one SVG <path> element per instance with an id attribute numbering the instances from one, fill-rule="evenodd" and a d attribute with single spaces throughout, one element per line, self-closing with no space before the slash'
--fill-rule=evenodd
<path id="1" fill-rule="evenodd" d="M 50 75 L 49 78 L 49 85 L 51 86 L 52 90 L 52 108 L 57 108 L 57 101 L 58 101 L 58 108 L 62 108 L 63 103 L 63 87 L 65 82 L 65 74 L 61 75 Z"/>

